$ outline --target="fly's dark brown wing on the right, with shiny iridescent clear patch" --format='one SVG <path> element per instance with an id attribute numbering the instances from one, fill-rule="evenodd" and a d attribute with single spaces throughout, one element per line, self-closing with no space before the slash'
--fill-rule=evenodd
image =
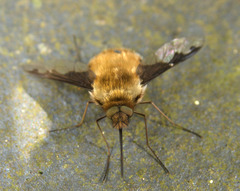
<path id="1" fill-rule="evenodd" d="M 185 38 L 174 39 L 164 44 L 155 52 L 155 64 L 138 66 L 137 74 L 142 80 L 141 84 L 147 84 L 169 68 L 190 58 L 200 50 L 202 45 L 202 39 L 189 42 Z"/>

